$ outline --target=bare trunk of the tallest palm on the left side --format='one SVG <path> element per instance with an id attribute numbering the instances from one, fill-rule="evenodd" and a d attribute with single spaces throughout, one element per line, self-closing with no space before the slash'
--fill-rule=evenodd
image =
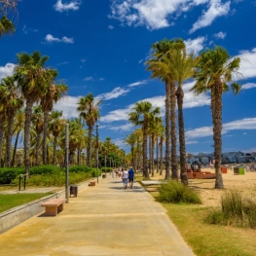
<path id="1" fill-rule="evenodd" d="M 32 114 L 33 101 L 29 98 L 26 99 L 25 108 L 25 125 L 24 125 L 24 164 L 25 173 L 30 177 L 29 171 L 29 146 L 30 146 L 30 124 L 31 124 L 31 114 Z"/>

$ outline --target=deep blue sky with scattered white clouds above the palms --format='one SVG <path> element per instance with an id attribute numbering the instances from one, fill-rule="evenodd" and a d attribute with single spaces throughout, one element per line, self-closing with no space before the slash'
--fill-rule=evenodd
<path id="1" fill-rule="evenodd" d="M 77 117 L 77 101 L 89 92 L 103 99 L 99 135 L 120 147 L 134 129 L 133 104 L 149 100 L 165 115 L 165 84 L 150 79 L 145 61 L 151 45 L 164 38 L 185 40 L 199 55 L 206 47 L 225 47 L 242 57 L 240 93 L 223 95 L 223 152 L 256 151 L 256 1 L 250 0 L 22 0 L 17 31 L 0 39 L 0 78 L 11 75 L 17 54 L 39 50 L 68 96 L 55 105 L 66 118 Z M 211 153 L 209 95 L 194 96 L 184 85 L 188 153 Z"/>

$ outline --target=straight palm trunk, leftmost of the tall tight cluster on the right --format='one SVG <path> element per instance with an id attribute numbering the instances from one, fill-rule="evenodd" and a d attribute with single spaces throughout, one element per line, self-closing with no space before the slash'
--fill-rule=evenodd
<path id="1" fill-rule="evenodd" d="M 170 83 L 165 81 L 165 179 L 170 179 Z"/>

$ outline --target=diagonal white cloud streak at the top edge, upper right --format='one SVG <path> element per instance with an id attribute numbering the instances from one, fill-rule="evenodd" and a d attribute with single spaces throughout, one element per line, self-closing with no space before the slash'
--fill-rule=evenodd
<path id="1" fill-rule="evenodd" d="M 210 0 L 209 9 L 203 13 L 197 22 L 193 24 L 193 27 L 190 29 L 190 33 L 194 33 L 201 27 L 210 25 L 215 18 L 228 15 L 230 11 L 230 4 L 230 1 L 222 4 L 221 0 Z"/>

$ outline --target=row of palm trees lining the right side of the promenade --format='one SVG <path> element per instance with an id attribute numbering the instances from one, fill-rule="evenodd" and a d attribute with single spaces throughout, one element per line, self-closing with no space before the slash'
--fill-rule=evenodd
<path id="1" fill-rule="evenodd" d="M 195 94 L 210 92 L 216 172 L 215 188 L 224 188 L 221 173 L 222 93 L 228 91 L 230 86 L 235 93 L 238 93 L 240 87 L 235 82 L 235 79 L 241 77 L 238 72 L 239 62 L 239 57 L 230 59 L 227 50 L 218 46 L 215 46 L 214 49 L 206 49 L 201 55 L 195 56 L 193 53 L 188 54 L 186 52 L 186 45 L 182 39 L 165 39 L 152 45 L 152 56 L 146 61 L 147 70 L 152 72 L 152 78 L 158 78 L 165 82 L 165 179 L 178 179 L 177 106 L 180 176 L 182 183 L 188 184 L 183 118 L 184 92 L 182 85 L 190 79 L 195 79 L 196 84 L 191 91 L 194 91 Z M 163 125 L 160 125 L 162 121 L 159 115 L 160 109 L 153 107 L 148 101 L 135 103 L 129 113 L 129 121 L 135 126 L 140 126 L 143 132 L 142 146 L 145 178 L 149 178 L 147 170 L 147 136 L 150 127 L 153 127 L 153 129 L 154 126 L 163 128 Z M 154 132 L 151 131 L 151 134 L 151 141 L 153 141 L 151 144 L 153 144 Z M 127 137 L 126 140 L 128 141 L 128 139 L 131 138 Z M 130 142 L 128 144 L 131 145 Z M 131 151 L 133 151 L 132 148 Z M 134 153 L 131 152 L 131 154 Z M 152 159 L 154 159 L 152 150 L 150 154 L 152 163 Z"/>

